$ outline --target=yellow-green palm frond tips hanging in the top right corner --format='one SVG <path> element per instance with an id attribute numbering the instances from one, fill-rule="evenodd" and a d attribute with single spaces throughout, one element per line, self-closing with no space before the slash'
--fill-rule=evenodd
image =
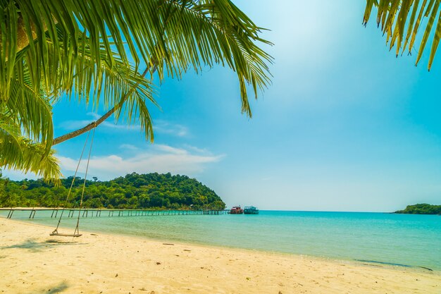
<path id="1" fill-rule="evenodd" d="M 415 65 L 423 56 L 428 39 L 432 39 L 428 61 L 430 71 L 441 37 L 440 0 L 366 0 L 364 25 L 368 23 L 374 7 L 378 11 L 377 25 L 381 25 L 386 42 L 390 42 L 390 50 L 395 47 L 397 56 L 403 54 L 406 49 L 409 50 L 409 54 L 412 53 L 418 30 L 421 25 L 426 25 L 426 28 L 423 27 L 424 34 L 417 50 Z"/>

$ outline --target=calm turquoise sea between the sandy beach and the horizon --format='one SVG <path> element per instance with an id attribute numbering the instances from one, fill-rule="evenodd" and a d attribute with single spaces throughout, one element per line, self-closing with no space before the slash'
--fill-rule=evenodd
<path id="1" fill-rule="evenodd" d="M 55 227 L 58 219 L 51 219 L 50 214 L 37 212 L 30 220 L 29 212 L 15 212 L 13 219 Z M 6 215 L 0 212 L 0 216 Z M 105 213 L 81 218 L 80 231 L 441 271 L 441 216 L 437 215 L 285 211 L 261 211 L 259 215 L 102 215 Z M 75 223 L 76 219 L 63 217 L 61 226 L 73 228 Z"/>

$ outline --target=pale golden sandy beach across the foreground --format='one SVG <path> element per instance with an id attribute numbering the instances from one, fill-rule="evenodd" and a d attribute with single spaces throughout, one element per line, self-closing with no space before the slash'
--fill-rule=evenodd
<path id="1" fill-rule="evenodd" d="M 0 219 L 0 293 L 441 293 L 439 271 L 51 229 Z"/>

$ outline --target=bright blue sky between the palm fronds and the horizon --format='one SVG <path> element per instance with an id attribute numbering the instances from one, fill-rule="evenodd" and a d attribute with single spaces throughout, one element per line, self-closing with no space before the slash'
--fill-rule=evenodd
<path id="1" fill-rule="evenodd" d="M 187 174 L 230 205 L 389 212 L 441 204 L 441 57 L 395 57 L 363 1 L 235 1 L 275 45 L 273 85 L 240 112 L 235 74 L 220 66 L 160 85 L 155 142 L 137 125 L 97 128 L 90 176 Z M 56 135 L 97 117 L 76 102 L 54 109 Z M 99 113 L 100 114 L 100 113 Z M 102 114 L 102 113 L 101 113 Z M 85 137 L 56 146 L 70 176 Z M 23 178 L 16 172 L 4 173 Z M 30 178 L 30 176 L 27 176 Z"/>

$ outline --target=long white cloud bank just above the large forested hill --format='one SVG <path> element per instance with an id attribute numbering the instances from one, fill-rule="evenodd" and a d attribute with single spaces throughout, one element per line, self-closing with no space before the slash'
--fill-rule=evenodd
<path id="1" fill-rule="evenodd" d="M 202 173 L 206 166 L 216 163 L 223 155 L 194 154 L 187 149 L 154 145 L 149 152 L 138 152 L 132 157 L 121 157 L 111 154 L 102 157 L 92 157 L 89 163 L 88 178 L 97 176 L 100 180 L 108 180 L 127 173 L 181 173 L 194 175 Z M 77 167 L 77 159 L 58 156 L 65 175 L 73 174 Z M 80 164 L 79 172 L 84 175 L 85 160 Z"/>

